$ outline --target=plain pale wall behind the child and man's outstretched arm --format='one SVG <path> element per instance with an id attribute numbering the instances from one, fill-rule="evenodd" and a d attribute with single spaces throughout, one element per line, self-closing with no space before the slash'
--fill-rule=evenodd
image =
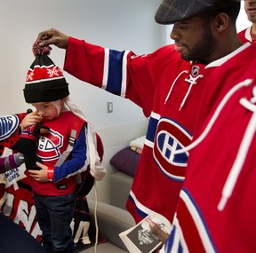
<path id="1" fill-rule="evenodd" d="M 160 46 L 161 26 L 154 20 L 156 0 L 10 0 L 0 9 L 1 30 L 1 115 L 24 111 L 22 89 L 38 32 L 47 28 L 117 50 L 138 53 Z M 65 51 L 53 47 L 51 58 L 63 67 Z M 140 120 L 140 108 L 125 99 L 79 82 L 64 74 L 70 83 L 70 97 L 84 110 L 96 127 Z M 96 99 L 97 98 L 97 99 Z M 107 102 L 114 113 L 107 114 Z M 125 113 L 124 113 L 125 112 Z"/>

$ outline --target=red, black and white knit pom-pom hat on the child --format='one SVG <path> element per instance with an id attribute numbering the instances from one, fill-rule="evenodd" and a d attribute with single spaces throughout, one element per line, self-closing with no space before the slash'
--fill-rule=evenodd
<path id="1" fill-rule="evenodd" d="M 60 68 L 48 57 L 51 47 L 40 47 L 39 43 L 34 43 L 32 48 L 36 59 L 28 69 L 23 89 L 26 102 L 51 102 L 68 97 L 68 83 Z"/>

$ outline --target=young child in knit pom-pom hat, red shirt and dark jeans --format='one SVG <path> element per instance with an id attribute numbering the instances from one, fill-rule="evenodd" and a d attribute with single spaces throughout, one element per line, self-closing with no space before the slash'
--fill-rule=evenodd
<path id="1" fill-rule="evenodd" d="M 37 51 L 28 69 L 24 97 L 36 108 L 37 115 L 49 129 L 40 134 L 36 162 L 41 170 L 28 170 L 35 195 L 38 224 L 47 252 L 74 253 L 70 223 L 76 202 L 76 174 L 89 170 L 100 180 L 106 170 L 100 165 L 96 136 L 83 113 L 70 101 L 68 83 L 48 52 Z M 70 132 L 76 123 L 76 141 L 64 162 L 58 162 L 67 151 Z M 25 129 L 26 131 L 26 129 Z M 62 156 L 63 157 L 63 156 Z M 58 163 L 57 163 L 58 162 Z"/>

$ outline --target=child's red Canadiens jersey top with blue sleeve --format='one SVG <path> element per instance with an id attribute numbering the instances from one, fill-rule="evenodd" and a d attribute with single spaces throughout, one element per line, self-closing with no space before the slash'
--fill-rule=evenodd
<path id="1" fill-rule="evenodd" d="M 40 136 L 36 151 L 37 157 L 48 167 L 54 167 L 61 154 L 67 150 L 68 141 L 73 123 L 79 121 L 77 131 L 81 131 L 84 121 L 71 112 L 60 113 L 59 117 L 45 121 L 44 125 L 50 128 L 49 133 Z M 79 137 L 80 138 L 80 137 Z M 37 182 L 31 178 L 31 186 L 36 194 L 41 195 L 64 195 L 74 193 L 76 190 L 76 177 L 72 177 L 84 168 L 86 160 L 86 141 L 76 139 L 72 150 L 72 159 L 65 161 L 60 166 L 54 167 L 54 178 L 57 182 Z M 83 146 L 84 145 L 84 146 Z"/>

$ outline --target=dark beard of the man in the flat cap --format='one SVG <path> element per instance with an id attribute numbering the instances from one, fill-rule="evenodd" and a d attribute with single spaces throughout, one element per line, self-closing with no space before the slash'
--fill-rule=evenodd
<path id="1" fill-rule="evenodd" d="M 212 36 L 210 28 L 204 28 L 204 35 L 198 40 L 198 43 L 187 55 L 181 55 L 182 59 L 192 60 L 201 64 L 208 64 L 212 51 L 216 46 L 215 39 Z"/>

